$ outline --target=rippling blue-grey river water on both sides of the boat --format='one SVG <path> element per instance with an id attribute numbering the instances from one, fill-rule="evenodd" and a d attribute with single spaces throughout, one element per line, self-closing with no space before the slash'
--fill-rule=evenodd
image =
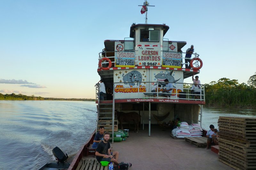
<path id="1" fill-rule="evenodd" d="M 218 127 L 219 116 L 256 118 L 256 110 L 204 107 L 202 127 Z M 0 169 L 38 169 L 55 160 L 55 146 L 68 153 L 71 163 L 96 118 L 96 104 L 90 101 L 0 100 Z"/>

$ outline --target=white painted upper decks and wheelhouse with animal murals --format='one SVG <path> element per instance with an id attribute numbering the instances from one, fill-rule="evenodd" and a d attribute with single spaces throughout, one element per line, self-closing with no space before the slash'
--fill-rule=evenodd
<path id="1" fill-rule="evenodd" d="M 158 85 L 164 89 L 164 79 L 168 79 L 174 87 L 172 95 L 168 98 L 179 99 L 179 93 L 186 93 L 186 98 L 192 99 L 192 103 L 204 104 L 203 86 L 200 100 L 194 100 L 190 95 L 189 86 L 183 84 L 185 78 L 200 73 L 197 68 L 199 62 L 192 62 L 194 69 L 185 68 L 186 53 L 182 52 L 181 48 L 187 43 L 164 38 L 168 30 L 169 26 L 165 24 L 132 24 L 129 38 L 104 41 L 105 48 L 99 53 L 97 71 L 106 88 L 114 92 L 115 99 L 131 99 L 115 102 L 137 102 L 137 99 L 141 98 L 152 98 L 152 102 L 164 102 L 166 100 L 161 100 L 164 98 L 161 93 L 156 93 L 155 100 L 156 96 L 152 97 L 151 91 Z M 196 53 L 192 54 L 192 58 L 198 56 Z M 182 103 L 187 101 L 184 100 Z"/>

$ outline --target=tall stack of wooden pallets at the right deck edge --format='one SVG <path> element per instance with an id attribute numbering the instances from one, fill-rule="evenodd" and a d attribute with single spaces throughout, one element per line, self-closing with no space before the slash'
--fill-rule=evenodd
<path id="1" fill-rule="evenodd" d="M 256 169 L 256 118 L 219 117 L 219 160 L 234 169 Z"/>

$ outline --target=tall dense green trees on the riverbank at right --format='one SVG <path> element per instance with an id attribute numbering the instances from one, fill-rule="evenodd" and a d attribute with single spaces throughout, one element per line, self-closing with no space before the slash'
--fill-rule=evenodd
<path id="1" fill-rule="evenodd" d="M 220 78 L 217 82 L 205 84 L 204 88 L 206 105 L 256 108 L 256 72 L 247 84 L 239 84 L 236 79 Z"/>

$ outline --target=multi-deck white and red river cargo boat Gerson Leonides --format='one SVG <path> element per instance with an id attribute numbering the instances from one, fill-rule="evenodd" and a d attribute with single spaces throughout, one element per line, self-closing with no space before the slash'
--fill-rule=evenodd
<path id="1" fill-rule="evenodd" d="M 108 169 L 94 158 L 92 143 L 100 126 L 111 134 L 117 131 L 120 122 L 115 110 L 124 114 L 136 112 L 140 116 L 138 133 L 132 132 L 133 124 L 126 122 L 124 127 L 130 129 L 130 137 L 123 142 L 114 142 L 113 137 L 110 138 L 111 150 L 119 151 L 118 161 L 132 163 L 129 169 L 231 169 L 218 161 L 216 153 L 170 137 L 168 122 L 177 117 L 188 124 L 202 126 L 204 85 L 200 85 L 200 94 L 195 97 L 191 93 L 192 83 L 184 83 L 184 79 L 199 74 L 203 62 L 199 54 L 194 53 L 190 63 L 185 63 L 186 53 L 182 48 L 187 42 L 164 37 L 169 30 L 165 24 L 148 24 L 149 4 L 145 2 L 143 6 L 145 24 L 133 23 L 129 38 L 104 41 L 97 72 L 107 94 L 100 100 L 99 84 L 95 85 L 97 127 L 68 170 Z M 172 83 L 172 92 L 152 91 L 158 85 L 166 89 L 164 79 Z"/>

